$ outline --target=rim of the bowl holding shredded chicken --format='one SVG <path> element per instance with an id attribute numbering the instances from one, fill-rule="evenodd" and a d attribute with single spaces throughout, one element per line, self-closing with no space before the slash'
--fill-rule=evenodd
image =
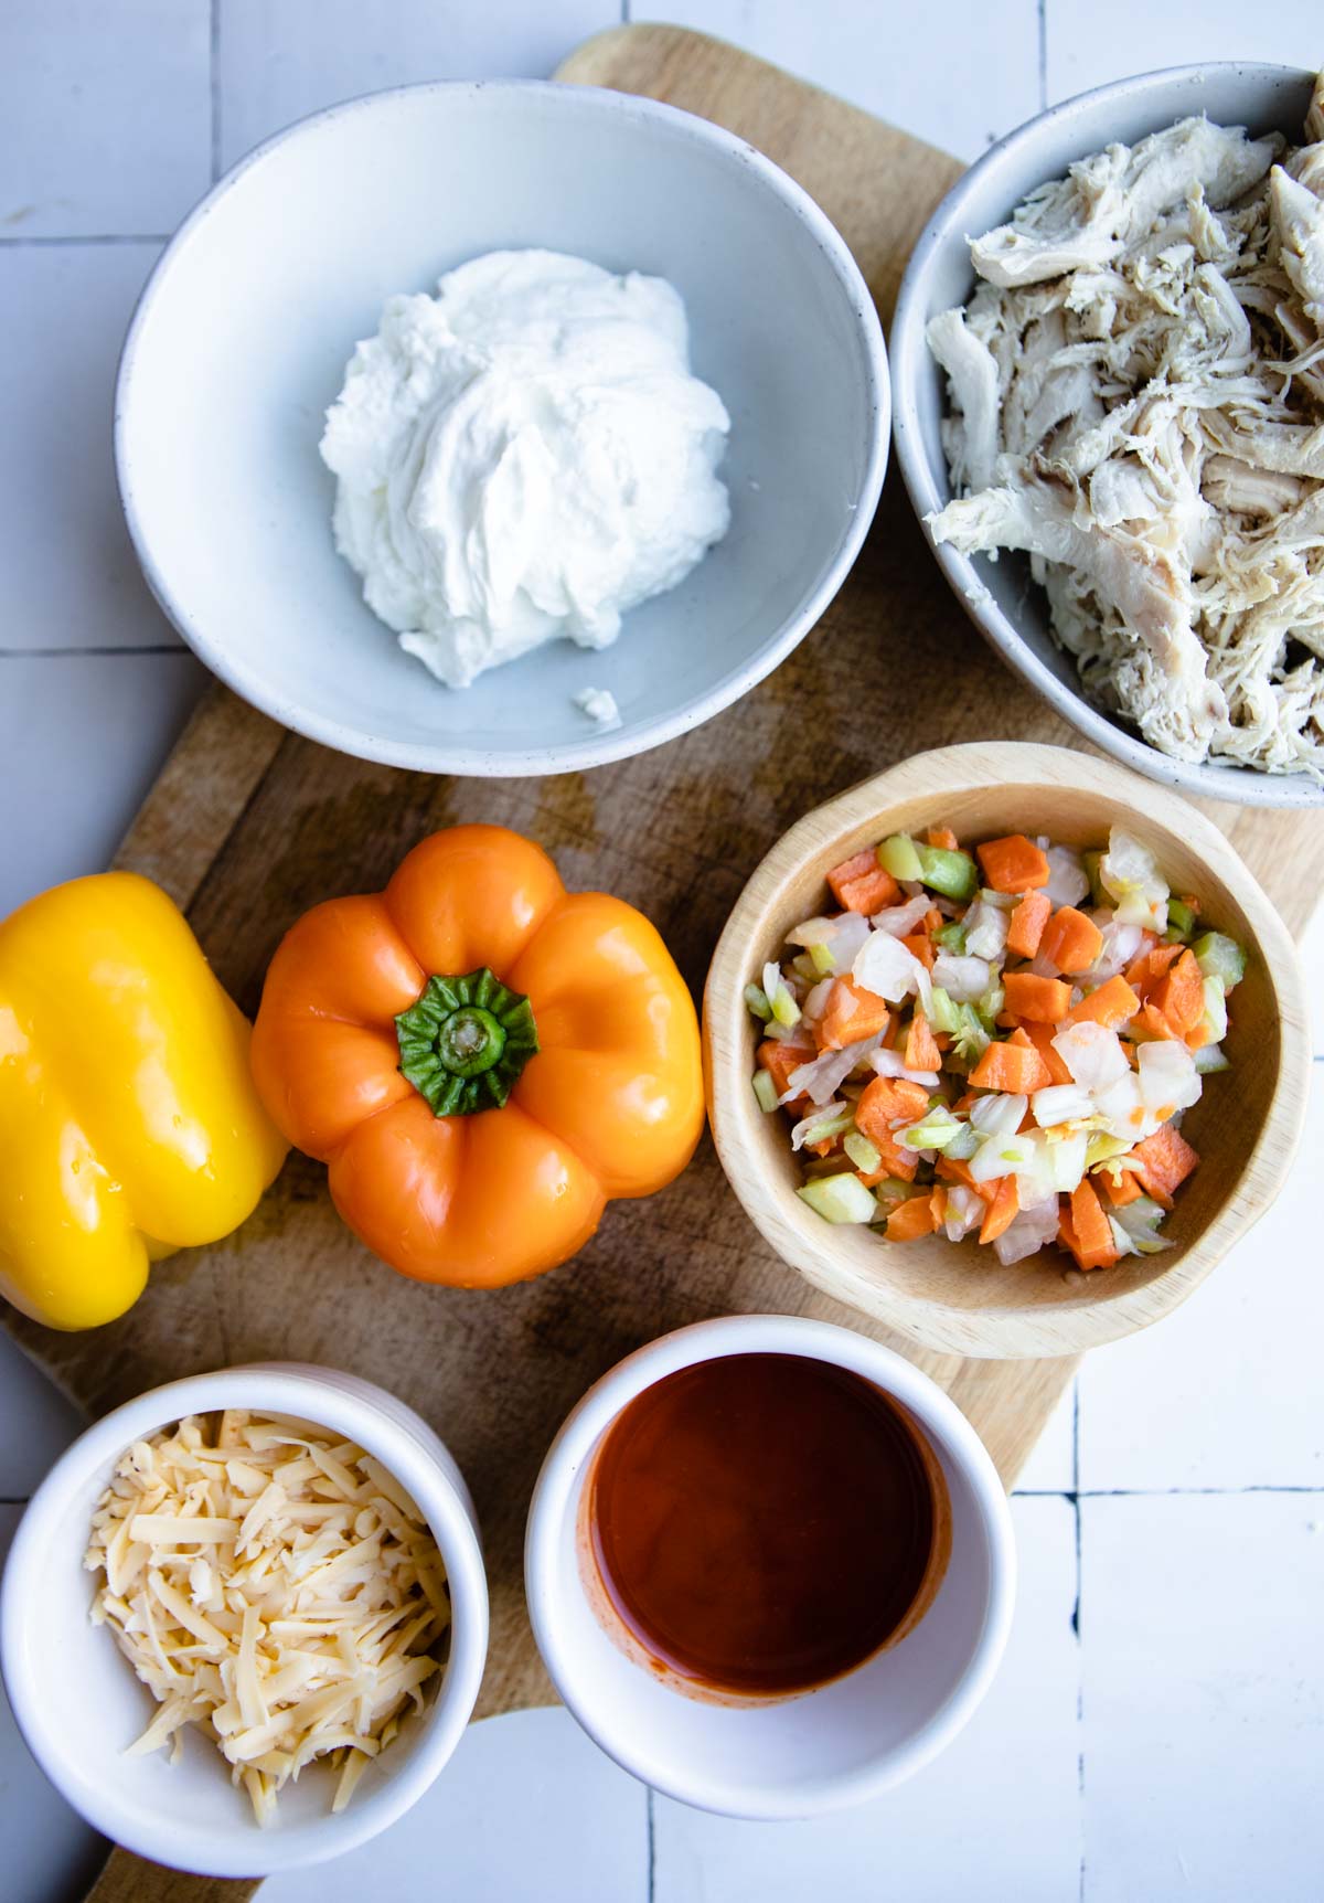
<path id="1" fill-rule="evenodd" d="M 1075 93 L 1075 97 L 1063 99 L 1046 112 L 1037 112 L 1035 118 L 1025 120 L 1023 126 L 1018 126 L 1004 139 L 999 139 L 997 145 L 991 145 L 987 152 L 983 152 L 974 166 L 970 166 L 970 169 L 957 179 L 925 225 L 925 230 L 909 255 L 909 263 L 905 265 L 902 287 L 896 297 L 896 316 L 892 318 L 892 331 L 888 339 L 892 362 L 892 436 L 896 441 L 896 461 L 902 470 L 905 493 L 911 499 L 925 540 L 947 577 L 957 601 L 989 645 L 995 647 L 1006 660 L 1006 664 L 1014 668 L 1022 679 L 1029 681 L 1029 685 L 1052 708 L 1056 708 L 1063 719 L 1067 719 L 1088 740 L 1094 740 L 1094 744 L 1105 754 L 1111 754 L 1113 759 L 1120 759 L 1124 765 L 1134 767 L 1147 778 L 1176 786 L 1185 794 L 1202 794 L 1206 799 L 1225 799 L 1229 803 L 1248 807 L 1309 809 L 1324 805 L 1324 786 L 1314 784 L 1307 775 L 1269 775 L 1259 773 L 1254 767 L 1170 759 L 1166 754 L 1160 754 L 1158 748 L 1149 746 L 1147 740 L 1139 740 L 1136 735 L 1111 721 L 1109 716 L 1096 708 L 1092 700 L 1086 700 L 1084 691 L 1079 685 L 1065 685 L 1058 679 L 1052 668 L 1048 668 L 1039 655 L 1035 655 L 1016 622 L 1003 613 L 997 601 L 978 599 L 982 584 L 970 556 L 957 554 L 947 544 L 938 546 L 925 525 L 925 516 L 944 504 L 944 497 L 940 495 L 938 481 L 934 478 L 934 468 L 925 449 L 915 405 L 915 386 L 919 383 L 921 369 L 926 369 L 925 322 L 928 270 L 938 251 L 951 242 L 953 232 L 963 232 L 963 213 L 970 194 L 978 190 L 989 171 L 997 171 L 1001 167 L 1008 154 L 1033 150 L 1041 143 L 1046 128 L 1082 118 L 1086 108 L 1092 110 L 1117 99 L 1143 99 L 1145 93 L 1158 93 L 1174 84 L 1187 84 L 1195 89 L 1206 86 L 1210 74 L 1242 74 L 1248 78 L 1256 76 L 1278 80 L 1311 78 L 1305 67 L 1282 67 L 1248 59 L 1210 59 L 1185 67 L 1158 67 L 1155 72 L 1139 72 L 1126 80 L 1109 80 L 1107 86 L 1094 86 L 1086 93 Z M 1195 99 L 1191 101 L 1191 110 L 1197 110 Z M 970 599 L 972 592 L 976 592 L 974 601 Z"/>

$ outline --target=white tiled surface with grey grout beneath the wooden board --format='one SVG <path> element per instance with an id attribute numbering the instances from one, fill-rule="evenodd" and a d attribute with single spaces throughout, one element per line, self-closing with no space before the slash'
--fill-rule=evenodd
<path id="1" fill-rule="evenodd" d="M 683 0 L 742 42 L 974 158 L 1042 103 L 1189 57 L 1320 57 L 1318 0 Z M 409 78 L 542 74 L 614 0 L 4 0 L 0 8 L 0 915 L 103 864 L 202 674 L 120 525 L 114 356 L 160 240 L 217 166 Z M 1324 923 L 1307 961 L 1324 988 Z M 1324 1026 L 1316 1026 L 1316 1037 Z M 1324 1043 L 1316 1077 L 1324 1083 Z M 1275 1212 L 1185 1309 L 1090 1357 L 1016 1501 L 1006 1667 L 953 1751 L 826 1825 L 647 1795 L 563 1713 L 476 1728 L 380 1844 L 272 1903 L 1166 1903 L 1320 1893 L 1324 1090 Z M 0 1340 L 0 1543 L 74 1431 Z M 512 1825 L 514 1819 L 514 1825 Z M 0 1707 L 4 1903 L 82 1893 L 97 1846 Z"/>

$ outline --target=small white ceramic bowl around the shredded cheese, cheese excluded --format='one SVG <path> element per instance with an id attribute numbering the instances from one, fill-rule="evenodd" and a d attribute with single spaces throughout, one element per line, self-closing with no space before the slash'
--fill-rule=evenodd
<path id="1" fill-rule="evenodd" d="M 295 1414 L 358 1441 L 428 1519 L 451 1587 L 451 1652 L 426 1713 L 371 1764 L 339 1815 L 335 1781 L 310 1768 L 287 1785 L 276 1823 L 253 1821 L 247 1795 L 200 1732 L 185 1755 L 126 1756 L 156 1701 L 108 1631 L 88 1612 L 91 1511 L 124 1448 L 183 1414 L 251 1406 Z M 339 1857 L 415 1804 L 468 1724 L 487 1658 L 487 1579 L 474 1503 L 449 1452 L 413 1408 L 333 1368 L 223 1368 L 156 1387 L 107 1414 L 51 1467 L 23 1515 L 0 1597 L 0 1663 L 13 1715 L 51 1783 L 97 1831 L 127 1850 L 207 1876 L 266 1876 Z"/>

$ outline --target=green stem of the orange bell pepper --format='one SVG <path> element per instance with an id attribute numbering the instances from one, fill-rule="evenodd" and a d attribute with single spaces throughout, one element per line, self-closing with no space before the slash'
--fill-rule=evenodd
<path id="1" fill-rule="evenodd" d="M 538 1049 L 533 1005 L 483 965 L 428 978 L 396 1018 L 399 1071 L 436 1117 L 500 1109 Z"/>

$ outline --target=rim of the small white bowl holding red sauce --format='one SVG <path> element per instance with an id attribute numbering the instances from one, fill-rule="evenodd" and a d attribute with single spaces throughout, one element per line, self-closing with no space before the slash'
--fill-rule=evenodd
<path id="1" fill-rule="evenodd" d="M 885 1393 L 902 1401 L 968 1481 L 976 1522 L 989 1557 L 983 1627 L 957 1686 L 940 1709 L 917 1726 L 904 1743 L 879 1753 L 869 1764 L 841 1775 L 807 1779 L 795 1789 L 793 1800 L 788 1800 L 784 1785 L 767 1791 L 738 1775 L 730 1775 L 723 1783 L 711 1779 L 700 1783 L 691 1779 L 683 1766 L 658 1755 L 651 1739 L 626 1736 L 618 1728 L 616 1715 L 603 1701 L 582 1696 L 574 1646 L 567 1644 L 557 1619 L 561 1597 L 557 1581 L 567 1515 L 574 1509 L 584 1469 L 607 1427 L 635 1395 L 668 1374 L 723 1355 L 757 1353 L 828 1361 L 875 1382 Z M 622 1770 L 654 1791 L 677 1798 L 681 1804 L 691 1804 L 694 1810 L 770 1823 L 862 1804 L 911 1777 L 964 1728 L 989 1690 L 1006 1648 L 1016 1602 L 1016 1540 L 1006 1490 L 989 1450 L 955 1401 L 915 1363 L 883 1347 L 881 1342 L 856 1334 L 852 1328 L 839 1328 L 835 1323 L 808 1321 L 801 1315 L 719 1315 L 711 1321 L 691 1323 L 637 1347 L 603 1374 L 565 1418 L 542 1462 L 529 1503 L 525 1595 L 542 1663 L 548 1667 L 567 1711 L 599 1751 L 605 1751 Z M 867 1661 L 864 1663 L 867 1665 Z"/>

